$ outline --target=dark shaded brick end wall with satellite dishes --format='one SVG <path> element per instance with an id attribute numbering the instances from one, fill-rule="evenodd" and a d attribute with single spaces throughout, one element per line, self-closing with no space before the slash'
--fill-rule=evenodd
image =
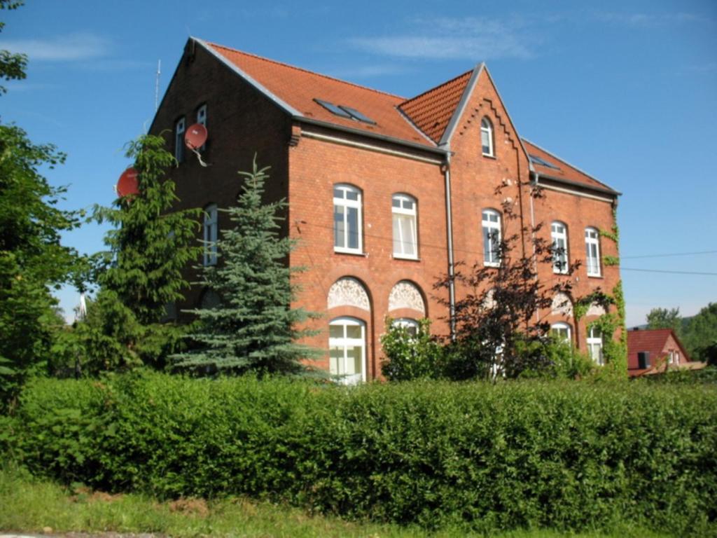
<path id="1" fill-rule="evenodd" d="M 200 166 L 196 156 L 185 150 L 184 162 L 170 172 L 179 197 L 176 207 L 232 205 L 242 186 L 237 171 L 250 171 L 255 154 L 260 167 L 271 166 L 267 199 L 286 197 L 290 117 L 199 45 L 194 54 L 186 50 L 179 61 L 151 133 L 162 133 L 167 148 L 174 153 L 175 121 L 184 115 L 186 127 L 196 123 L 196 109 L 204 103 L 209 138 L 203 159 L 210 166 Z M 227 215 L 219 212 L 219 230 L 228 226 Z M 199 229 L 199 239 L 201 233 Z M 201 264 L 201 259 L 196 263 Z M 189 281 L 198 278 L 192 268 L 186 275 Z M 200 295 L 201 289 L 193 286 L 179 308 L 197 306 Z"/>

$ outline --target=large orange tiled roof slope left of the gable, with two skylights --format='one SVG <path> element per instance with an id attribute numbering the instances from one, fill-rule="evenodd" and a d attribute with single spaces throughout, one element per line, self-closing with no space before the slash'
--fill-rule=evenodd
<path id="1" fill-rule="evenodd" d="M 405 98 L 391 95 L 351 82 L 338 80 L 326 75 L 294 67 L 275 60 L 255 56 L 247 52 L 224 47 L 219 44 L 197 42 L 207 47 L 210 52 L 222 57 L 244 75 L 267 90 L 270 97 L 290 105 L 298 112 L 298 119 L 307 118 L 314 121 L 329 123 L 334 126 L 351 128 L 379 136 L 397 138 L 399 141 L 435 148 L 429 141 L 399 112 L 398 106 Z M 328 101 L 333 105 L 344 105 L 358 110 L 375 124 L 343 118 L 331 113 L 314 99 Z"/>

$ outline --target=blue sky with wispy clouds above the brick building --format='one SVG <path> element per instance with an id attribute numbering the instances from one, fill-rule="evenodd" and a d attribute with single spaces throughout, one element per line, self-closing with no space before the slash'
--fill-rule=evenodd
<path id="1" fill-rule="evenodd" d="M 189 35 L 412 96 L 480 61 L 521 136 L 623 192 L 627 324 L 717 301 L 717 2 L 28 0 L 0 49 L 29 55 L 0 117 L 68 155 L 65 207 L 108 205 Z M 67 235 L 84 252 L 104 230 Z M 683 253 L 701 253 L 685 255 Z M 678 255 L 675 255 L 678 254 Z M 663 255 L 641 258 L 642 256 Z M 77 293 L 60 293 L 71 311 Z"/>

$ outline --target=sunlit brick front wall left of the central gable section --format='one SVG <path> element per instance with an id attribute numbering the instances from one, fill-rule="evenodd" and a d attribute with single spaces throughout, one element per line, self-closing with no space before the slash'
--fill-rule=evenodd
<path id="1" fill-rule="evenodd" d="M 304 131 L 322 132 L 313 126 Z M 350 135 L 331 133 L 339 138 Z M 373 143 L 363 141 L 364 143 Z M 386 147 L 384 143 L 378 143 Z M 406 151 L 405 148 L 402 148 Z M 424 155 L 425 156 L 425 155 Z M 322 332 L 307 343 L 321 349 L 328 346 L 328 323 L 339 316 L 352 316 L 366 324 L 368 378 L 379 377 L 384 319 L 389 314 L 389 293 L 401 280 L 410 280 L 424 296 L 427 314 L 433 319 L 446 316 L 433 291 L 437 278 L 447 271 L 444 176 L 437 164 L 381 154 L 303 136 L 289 152 L 290 233 L 299 240 L 291 255 L 292 265 L 308 271 L 297 276 L 302 292 L 297 305 L 326 315 L 314 324 Z M 351 184 L 362 192 L 364 255 L 335 253 L 333 250 L 333 185 Z M 417 199 L 419 260 L 393 257 L 391 195 L 410 194 Z M 331 285 L 339 278 L 353 277 L 364 283 L 371 311 L 338 307 L 327 311 Z M 391 316 L 421 318 L 417 311 L 402 309 Z M 444 322 L 435 329 L 446 332 Z M 317 366 L 328 369 L 328 356 Z"/>

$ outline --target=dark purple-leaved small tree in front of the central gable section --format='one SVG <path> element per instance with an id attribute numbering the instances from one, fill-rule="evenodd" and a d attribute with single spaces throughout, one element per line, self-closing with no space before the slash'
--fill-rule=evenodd
<path id="1" fill-rule="evenodd" d="M 500 187 L 496 194 L 500 194 Z M 540 197 L 533 189 L 531 196 Z M 520 214 L 512 204 L 504 204 L 506 220 L 518 221 Z M 517 225 L 517 222 L 516 222 Z M 465 271 L 457 263 L 455 275 L 444 275 L 435 288 L 459 290 L 452 322 L 454 334 L 446 342 L 447 372 L 451 379 L 497 379 L 518 377 L 525 370 L 548 368 L 542 354 L 519 352 L 526 342 L 543 342 L 550 330 L 546 321 L 535 320 L 535 313 L 551 308 L 558 294 L 569 294 L 571 280 L 546 281 L 538 278 L 538 266 L 554 266 L 561 249 L 541 237 L 542 225 L 521 227 L 520 234 L 492 237 L 500 263 L 485 265 L 483 260 Z M 531 253 L 526 253 L 521 237 L 531 237 Z M 579 262 L 565 268 L 572 273 Z M 439 301 L 451 308 L 446 299 Z"/>

